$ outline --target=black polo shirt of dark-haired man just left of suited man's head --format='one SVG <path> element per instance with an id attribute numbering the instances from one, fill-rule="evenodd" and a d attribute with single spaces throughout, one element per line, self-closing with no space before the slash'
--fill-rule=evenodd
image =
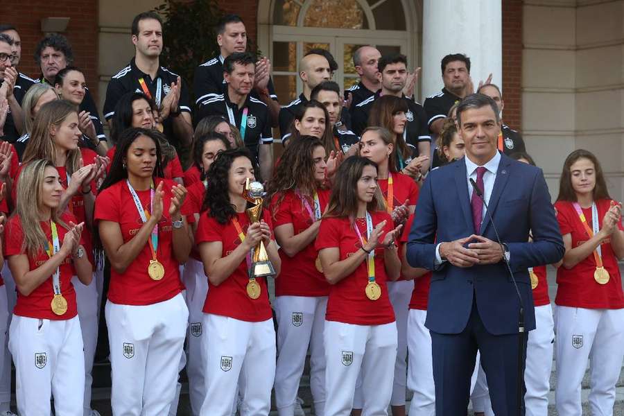
<path id="1" fill-rule="evenodd" d="M 354 107 L 352 113 L 353 132 L 361 136 L 363 130 L 368 125 L 368 115 L 370 109 L 377 97 L 379 97 L 381 90 L 376 92 L 373 96 L 370 96 L 366 100 L 362 101 Z M 429 128 L 427 125 L 427 118 L 422 105 L 415 101 L 403 96 L 403 99 L 408 105 L 408 111 L 406 112 L 407 124 L 406 133 L 404 135 L 405 142 L 408 146 L 413 148 L 413 157 L 418 155 L 418 144 L 421 141 L 431 141 L 431 135 L 429 135 Z"/>

